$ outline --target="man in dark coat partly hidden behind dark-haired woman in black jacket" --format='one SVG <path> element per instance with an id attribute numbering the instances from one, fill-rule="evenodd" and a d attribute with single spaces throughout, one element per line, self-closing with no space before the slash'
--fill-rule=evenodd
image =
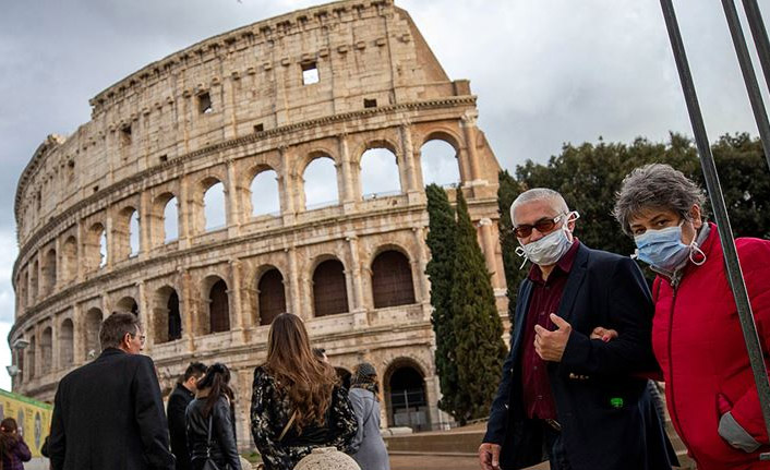
<path id="1" fill-rule="evenodd" d="M 168 415 L 168 434 L 171 438 L 171 453 L 177 458 L 177 470 L 190 470 L 190 451 L 184 429 L 184 411 L 190 401 L 195 398 L 197 379 L 206 373 L 206 366 L 201 362 L 191 362 L 179 378 L 177 387 L 168 397 L 166 414 Z"/>

